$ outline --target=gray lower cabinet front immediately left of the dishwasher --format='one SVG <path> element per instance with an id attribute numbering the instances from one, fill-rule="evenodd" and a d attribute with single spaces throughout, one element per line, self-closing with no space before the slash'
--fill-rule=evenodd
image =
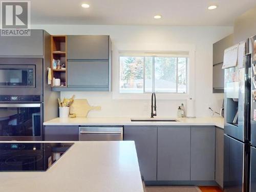
<path id="1" fill-rule="evenodd" d="M 76 125 L 46 125 L 45 141 L 78 141 Z"/>

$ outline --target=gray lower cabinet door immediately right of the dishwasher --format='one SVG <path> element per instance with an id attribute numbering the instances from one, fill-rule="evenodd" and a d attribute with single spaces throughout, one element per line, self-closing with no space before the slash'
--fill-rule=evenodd
<path id="1" fill-rule="evenodd" d="M 135 141 L 140 173 L 145 181 L 157 180 L 157 127 L 124 126 L 124 140 Z"/>

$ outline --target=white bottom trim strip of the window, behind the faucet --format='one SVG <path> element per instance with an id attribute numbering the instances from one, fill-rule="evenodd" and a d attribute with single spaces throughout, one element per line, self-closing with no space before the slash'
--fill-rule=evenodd
<path id="1" fill-rule="evenodd" d="M 114 93 L 113 99 L 132 99 L 132 100 L 148 100 L 151 99 L 151 93 Z M 186 100 L 189 98 L 187 93 L 156 93 L 158 100 Z"/>

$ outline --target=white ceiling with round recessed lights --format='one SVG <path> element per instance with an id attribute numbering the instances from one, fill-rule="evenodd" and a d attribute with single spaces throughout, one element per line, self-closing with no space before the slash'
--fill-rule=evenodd
<path id="1" fill-rule="evenodd" d="M 91 7 L 84 9 L 81 4 Z M 208 10 L 217 4 L 216 10 Z M 232 26 L 256 0 L 31 0 L 32 24 Z M 161 14 L 161 19 L 153 16 Z"/>

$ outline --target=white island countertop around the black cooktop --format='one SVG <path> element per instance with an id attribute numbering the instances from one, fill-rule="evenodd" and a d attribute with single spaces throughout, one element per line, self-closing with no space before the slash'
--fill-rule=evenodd
<path id="1" fill-rule="evenodd" d="M 133 141 L 74 143 L 46 172 L 0 173 L 0 191 L 143 192 Z"/>

